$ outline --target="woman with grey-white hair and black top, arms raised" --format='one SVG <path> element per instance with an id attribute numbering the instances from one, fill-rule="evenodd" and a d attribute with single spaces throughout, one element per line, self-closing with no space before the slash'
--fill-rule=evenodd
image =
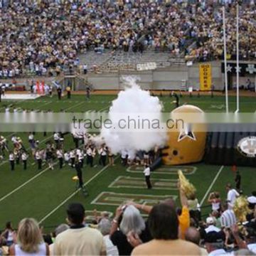
<path id="1" fill-rule="evenodd" d="M 117 246 L 119 255 L 131 255 L 133 247 L 127 239 L 127 235 L 131 233 L 138 236 L 142 242 L 148 242 L 152 239 L 149 229 L 137 208 L 132 205 L 117 208 L 112 221 L 110 239 Z"/>

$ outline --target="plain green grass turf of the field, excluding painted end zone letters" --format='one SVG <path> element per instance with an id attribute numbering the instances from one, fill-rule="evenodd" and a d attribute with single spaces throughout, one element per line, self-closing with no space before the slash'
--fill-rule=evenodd
<path id="1" fill-rule="evenodd" d="M 0 103 L 0 112 L 4 111 L 5 105 L 13 105 L 13 107 L 20 107 L 27 110 L 53 110 L 59 112 L 66 110 L 68 112 L 85 112 L 87 110 L 103 111 L 107 110 L 112 100 L 116 95 L 92 95 L 90 100 L 85 100 L 84 95 L 73 95 L 71 100 L 63 98 L 58 101 L 57 97 L 41 97 L 37 100 L 26 101 L 4 101 Z M 174 109 L 172 101 L 174 98 L 169 96 L 159 97 L 164 106 L 164 112 L 170 112 Z M 235 111 L 236 101 L 235 97 L 230 97 L 230 111 Z M 223 112 L 225 111 L 225 98 L 224 96 L 201 96 L 181 97 L 181 104 L 193 104 L 201 107 L 206 112 Z M 222 108 L 221 108 L 222 107 Z M 255 112 L 255 97 L 240 97 L 240 111 L 242 112 Z M 11 139 L 13 133 L 4 133 L 5 137 Z M 23 139 L 26 147 L 28 147 L 28 134 L 18 133 L 18 136 Z M 52 134 L 48 133 L 47 137 L 43 134 L 37 133 L 36 139 L 41 141 L 41 145 L 45 144 L 48 139 L 51 139 Z M 70 149 L 73 147 L 73 141 L 70 135 L 65 137 L 65 148 Z M 97 159 L 95 159 L 97 164 Z M 187 177 L 197 188 L 198 200 L 201 201 L 205 195 L 208 187 L 212 183 L 215 175 L 218 173 L 220 166 L 206 166 L 205 164 L 193 165 L 197 167 L 195 174 L 188 175 Z M 23 171 L 22 166 L 16 166 L 15 171 L 11 172 L 8 161 L 0 162 L 0 228 L 4 228 L 4 223 L 11 220 L 16 227 L 18 221 L 24 217 L 33 217 L 37 220 L 42 220 L 46 230 L 52 230 L 53 227 L 59 223 L 65 222 L 65 208 L 68 203 L 79 201 L 85 205 L 87 210 L 110 210 L 114 211 L 115 206 L 102 206 L 93 205 L 91 202 L 102 192 L 112 191 L 115 193 L 138 193 L 150 195 L 177 195 L 177 191 L 154 190 L 151 191 L 145 188 L 108 188 L 110 183 L 118 176 L 132 176 L 143 178 L 140 173 L 127 173 L 126 168 L 121 166 L 119 159 L 116 159 L 116 165 L 107 167 L 102 170 L 102 166 L 90 168 L 85 166 L 83 169 L 84 181 L 90 181 L 87 184 L 89 196 L 84 197 L 81 192 L 75 192 L 75 182 L 72 177 L 75 171 L 70 166 L 65 166 L 62 170 L 55 166 L 54 170 L 45 170 L 47 166 L 43 166 L 43 170 L 39 172 L 37 166 L 33 165 L 33 159 L 29 159 L 28 170 Z M 239 168 L 242 175 L 242 189 L 245 194 L 250 193 L 255 189 L 255 169 L 253 168 Z M 40 175 L 38 175 L 40 174 Z M 36 178 L 36 175 L 38 175 Z M 97 175 L 97 176 L 96 176 Z M 32 180 L 30 180 L 33 178 Z M 152 174 L 152 178 L 177 178 L 176 175 L 168 174 Z M 220 191 L 221 197 L 225 198 L 225 183 L 234 180 L 234 174 L 230 166 L 225 166 L 220 173 L 217 181 L 215 182 L 211 191 Z M 27 183 L 26 183 L 27 182 Z M 24 184 L 26 183 L 26 184 Z M 23 185 L 23 186 L 22 186 Z M 22 186 L 19 188 L 19 186 Z M 18 189 L 17 189 L 18 188 Z M 16 191 L 14 191 L 17 189 Z M 14 193 L 12 193 L 14 191 Z M 11 193 L 9 196 L 9 193 Z M 73 196 L 70 196 L 73 195 Z M 3 197 L 6 198 L 3 199 Z M 69 200 L 66 200 L 70 197 Z M 207 198 L 206 198 L 207 201 Z M 207 202 L 204 202 L 204 205 Z M 208 213 L 210 208 L 203 210 L 203 213 Z"/>

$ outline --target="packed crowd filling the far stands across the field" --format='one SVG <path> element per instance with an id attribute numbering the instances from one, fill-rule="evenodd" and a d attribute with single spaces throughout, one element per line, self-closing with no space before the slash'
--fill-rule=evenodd
<path id="1" fill-rule="evenodd" d="M 58 75 L 81 63 L 79 54 L 106 48 L 220 58 L 222 1 L 1 1 L 0 78 Z M 228 54 L 235 53 L 235 1 L 227 8 Z M 255 1 L 240 10 L 240 55 L 255 58 Z M 193 45 L 193 47 L 192 47 Z M 191 46 L 191 47 L 189 47 Z"/>

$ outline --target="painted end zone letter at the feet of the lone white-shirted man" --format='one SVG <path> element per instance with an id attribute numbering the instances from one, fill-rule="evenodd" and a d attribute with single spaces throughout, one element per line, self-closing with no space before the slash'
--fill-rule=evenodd
<path id="1" fill-rule="evenodd" d="M 161 190 L 177 190 L 176 178 L 151 178 L 152 187 Z M 134 178 L 129 176 L 117 177 L 109 188 L 146 188 L 145 178 Z"/>

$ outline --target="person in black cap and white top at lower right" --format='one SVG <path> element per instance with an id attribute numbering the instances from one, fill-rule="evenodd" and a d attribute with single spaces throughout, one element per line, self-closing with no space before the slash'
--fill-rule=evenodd
<path id="1" fill-rule="evenodd" d="M 209 256 L 226 255 L 223 249 L 225 234 L 223 232 L 211 231 L 206 234 L 205 244 Z"/>

